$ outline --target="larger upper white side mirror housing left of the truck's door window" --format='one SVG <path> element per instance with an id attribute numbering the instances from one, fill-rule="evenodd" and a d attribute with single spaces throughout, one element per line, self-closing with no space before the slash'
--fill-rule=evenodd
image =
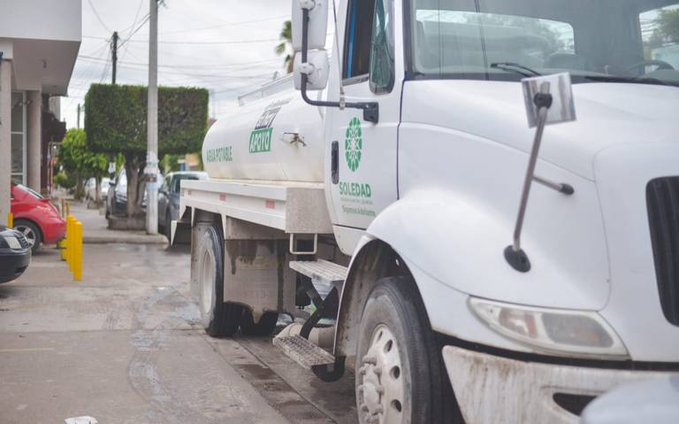
<path id="1" fill-rule="evenodd" d="M 325 47 L 328 37 L 328 2 L 330 0 L 294 0 L 293 1 L 293 49 L 302 49 L 303 10 L 309 11 L 309 39 L 307 49 L 319 50 Z"/>

